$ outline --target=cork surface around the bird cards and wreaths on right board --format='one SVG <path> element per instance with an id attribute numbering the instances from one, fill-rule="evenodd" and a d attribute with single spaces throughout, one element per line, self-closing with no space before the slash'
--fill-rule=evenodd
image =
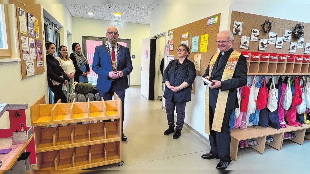
<path id="1" fill-rule="evenodd" d="M 309 55 L 304 54 L 305 44 L 303 44 L 303 48 L 296 48 L 296 53 L 289 53 L 290 50 L 290 42 L 298 42 L 297 38 L 291 36 L 290 42 L 283 42 L 283 48 L 275 48 L 275 44 L 268 44 L 266 51 L 259 50 L 259 41 L 250 41 L 249 49 L 241 49 L 241 36 L 251 37 L 252 29 L 259 29 L 259 38 L 260 39 L 268 39 L 269 33 L 263 33 L 262 26 L 265 20 L 268 19 L 272 22 L 272 28 L 270 32 L 277 32 L 277 36 L 284 37 L 285 30 L 292 30 L 292 28 L 298 24 L 298 21 L 272 18 L 268 16 L 254 15 L 249 13 L 243 13 L 239 11 L 232 11 L 231 22 L 230 22 L 230 31 L 233 32 L 234 21 L 242 22 L 242 32 L 241 35 L 234 34 L 234 43 L 232 44 L 232 48 L 238 51 L 249 51 L 249 52 L 266 52 L 266 53 L 282 53 L 282 54 L 300 54 L 300 55 Z M 310 24 L 303 23 L 304 26 L 304 43 L 310 43 Z"/>

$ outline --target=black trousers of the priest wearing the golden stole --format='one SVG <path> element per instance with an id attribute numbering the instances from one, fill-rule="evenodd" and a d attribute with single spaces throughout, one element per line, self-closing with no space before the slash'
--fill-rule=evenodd
<path id="1" fill-rule="evenodd" d="M 232 111 L 226 111 L 224 113 L 224 119 L 222 124 L 221 132 L 212 130 L 212 123 L 214 118 L 215 109 L 209 106 L 210 112 L 210 153 L 216 156 L 218 159 L 231 162 L 229 155 L 230 152 L 230 131 L 229 131 L 229 121 Z"/>

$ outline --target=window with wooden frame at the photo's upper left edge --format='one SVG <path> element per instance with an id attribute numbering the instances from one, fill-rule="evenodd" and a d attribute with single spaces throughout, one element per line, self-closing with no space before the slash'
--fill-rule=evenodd
<path id="1" fill-rule="evenodd" d="M 10 58 L 9 56 L 11 56 L 9 32 L 7 4 L 0 4 L 0 58 Z"/>

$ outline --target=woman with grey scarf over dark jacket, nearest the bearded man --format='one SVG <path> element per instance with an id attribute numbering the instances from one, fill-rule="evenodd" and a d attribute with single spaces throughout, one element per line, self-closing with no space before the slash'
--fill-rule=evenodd
<path id="1" fill-rule="evenodd" d="M 74 82 L 88 83 L 89 64 L 84 53 L 81 51 L 81 46 L 78 43 L 72 44 L 72 53 L 70 59 L 75 68 Z"/>

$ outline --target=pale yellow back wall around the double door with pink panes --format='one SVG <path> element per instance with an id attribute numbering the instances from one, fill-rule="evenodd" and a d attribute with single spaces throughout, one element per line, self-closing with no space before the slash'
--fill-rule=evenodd
<path id="1" fill-rule="evenodd" d="M 106 37 L 109 26 L 114 26 L 114 21 L 72 17 L 72 43 L 77 42 L 82 46 L 82 36 Z M 121 26 L 115 27 L 118 29 L 119 38 L 131 40 L 130 54 L 134 54 L 136 58 L 131 59 L 133 70 L 130 85 L 140 85 L 141 40 L 150 36 L 150 25 L 122 22 Z"/>

